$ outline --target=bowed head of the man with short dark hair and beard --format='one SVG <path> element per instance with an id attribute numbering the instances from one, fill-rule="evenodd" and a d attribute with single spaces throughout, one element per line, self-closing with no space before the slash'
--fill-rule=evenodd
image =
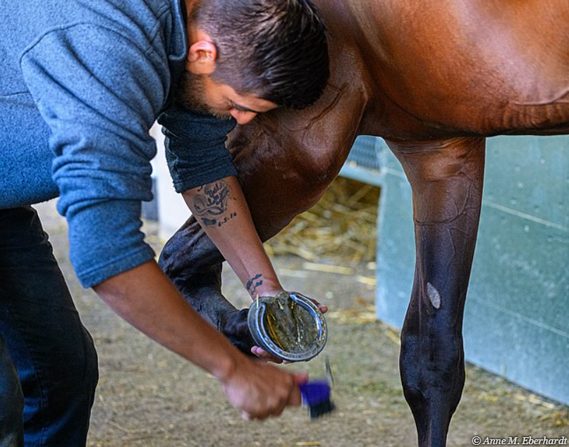
<path id="1" fill-rule="evenodd" d="M 328 80 L 326 28 L 310 1 L 202 0 L 189 31 L 180 93 L 192 108 L 244 124 L 276 106 L 310 106 Z"/>

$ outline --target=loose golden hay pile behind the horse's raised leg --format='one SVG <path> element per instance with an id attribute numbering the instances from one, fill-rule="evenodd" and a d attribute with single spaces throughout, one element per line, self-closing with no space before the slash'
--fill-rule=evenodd
<path id="1" fill-rule="evenodd" d="M 310 210 L 265 244 L 269 255 L 357 265 L 375 260 L 379 188 L 338 177 Z"/>

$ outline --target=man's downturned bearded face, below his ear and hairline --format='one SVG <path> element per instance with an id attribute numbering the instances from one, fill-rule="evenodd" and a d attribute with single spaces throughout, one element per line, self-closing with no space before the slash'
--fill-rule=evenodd
<path id="1" fill-rule="evenodd" d="M 238 94 L 228 84 L 219 84 L 209 75 L 194 75 L 188 71 L 183 73 L 176 94 L 187 108 L 219 118 L 233 116 L 240 125 L 250 122 L 257 113 L 278 107 L 253 94 Z"/>

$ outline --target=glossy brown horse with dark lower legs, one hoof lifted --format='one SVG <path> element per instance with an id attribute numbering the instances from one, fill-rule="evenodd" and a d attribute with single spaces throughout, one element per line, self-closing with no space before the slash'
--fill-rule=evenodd
<path id="1" fill-rule="evenodd" d="M 318 201 L 358 135 L 383 137 L 412 187 L 415 278 L 400 376 L 420 447 L 446 445 L 465 383 L 463 313 L 482 203 L 485 139 L 569 131 L 569 3 L 314 0 L 331 77 L 303 111 L 259 115 L 228 149 L 262 240 Z M 248 352 L 247 309 L 221 294 L 223 258 L 190 218 L 160 264 Z"/>

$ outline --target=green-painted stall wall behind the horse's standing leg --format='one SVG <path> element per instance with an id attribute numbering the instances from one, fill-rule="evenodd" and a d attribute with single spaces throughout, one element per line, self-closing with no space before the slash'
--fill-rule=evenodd
<path id="1" fill-rule="evenodd" d="M 379 147 L 377 315 L 401 327 L 415 265 L 411 191 Z M 569 137 L 489 139 L 484 183 L 466 358 L 569 403 Z"/>

